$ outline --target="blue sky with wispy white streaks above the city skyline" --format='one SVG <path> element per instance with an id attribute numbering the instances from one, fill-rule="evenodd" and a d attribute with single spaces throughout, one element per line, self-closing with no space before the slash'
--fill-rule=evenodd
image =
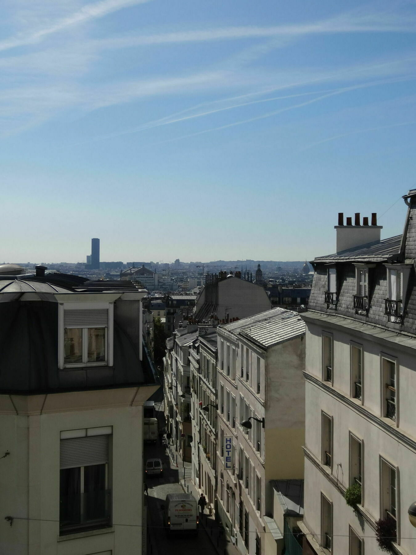
<path id="1" fill-rule="evenodd" d="M 5 0 L 0 259 L 313 259 L 338 211 L 402 233 L 415 32 L 414 1 Z"/>

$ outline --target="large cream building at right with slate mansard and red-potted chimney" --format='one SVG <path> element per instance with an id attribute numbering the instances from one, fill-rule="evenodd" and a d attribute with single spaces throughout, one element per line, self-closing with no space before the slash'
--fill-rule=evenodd
<path id="1" fill-rule="evenodd" d="M 403 235 L 339 214 L 313 261 L 306 336 L 304 553 L 416 553 L 416 190 Z M 349 504 L 347 504 L 347 500 Z M 377 532 L 382 530 L 381 533 Z M 389 541 L 388 538 L 392 538 Z"/>

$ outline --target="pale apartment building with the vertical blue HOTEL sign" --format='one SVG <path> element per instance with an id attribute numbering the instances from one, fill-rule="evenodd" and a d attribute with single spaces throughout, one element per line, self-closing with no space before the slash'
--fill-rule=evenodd
<path id="1" fill-rule="evenodd" d="M 303 478 L 305 323 L 276 308 L 218 326 L 217 345 L 220 519 L 244 555 L 280 555 L 272 481 Z"/>

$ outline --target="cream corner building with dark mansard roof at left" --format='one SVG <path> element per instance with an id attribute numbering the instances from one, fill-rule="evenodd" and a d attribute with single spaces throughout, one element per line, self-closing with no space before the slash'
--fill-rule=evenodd
<path id="1" fill-rule="evenodd" d="M 142 552 L 145 293 L 0 267 L 0 553 Z"/>

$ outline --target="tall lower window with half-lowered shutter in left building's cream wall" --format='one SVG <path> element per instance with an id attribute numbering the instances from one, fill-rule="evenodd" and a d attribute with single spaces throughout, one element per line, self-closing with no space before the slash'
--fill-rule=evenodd
<path id="1" fill-rule="evenodd" d="M 110 526 L 108 453 L 111 426 L 61 432 L 59 532 Z"/>

